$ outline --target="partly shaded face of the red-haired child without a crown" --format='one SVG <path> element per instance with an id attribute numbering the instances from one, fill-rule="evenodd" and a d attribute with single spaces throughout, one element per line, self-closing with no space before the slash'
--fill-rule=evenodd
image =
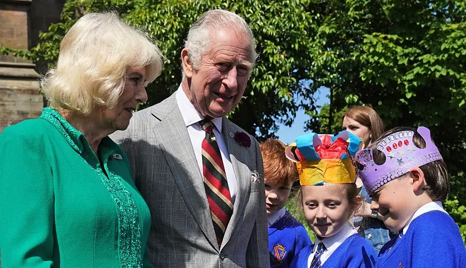
<path id="1" fill-rule="evenodd" d="M 264 184 L 266 189 L 266 208 L 269 215 L 285 207 L 293 182 L 277 183 L 265 179 Z"/>

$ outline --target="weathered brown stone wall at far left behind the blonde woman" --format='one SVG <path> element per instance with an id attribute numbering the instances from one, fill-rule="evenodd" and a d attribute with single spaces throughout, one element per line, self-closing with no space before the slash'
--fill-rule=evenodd
<path id="1" fill-rule="evenodd" d="M 0 0 L 0 46 L 29 49 L 29 8 L 32 0 Z M 0 132 L 7 126 L 40 115 L 38 74 L 32 62 L 0 55 Z"/>

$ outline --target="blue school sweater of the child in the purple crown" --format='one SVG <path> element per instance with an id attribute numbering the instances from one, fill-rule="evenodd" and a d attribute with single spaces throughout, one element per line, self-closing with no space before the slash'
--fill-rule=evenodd
<path id="1" fill-rule="evenodd" d="M 408 231 L 380 249 L 376 267 L 466 268 L 460 230 L 443 211 L 429 211 L 412 220 Z"/>

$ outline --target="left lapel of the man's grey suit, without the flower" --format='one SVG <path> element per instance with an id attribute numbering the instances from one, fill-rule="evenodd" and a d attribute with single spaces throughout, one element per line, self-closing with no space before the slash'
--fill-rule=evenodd
<path id="1" fill-rule="evenodd" d="M 155 124 L 153 131 L 157 139 L 160 140 L 168 167 L 175 178 L 186 206 L 210 243 L 215 249 L 218 249 L 204 182 L 188 130 L 179 112 L 175 94 L 166 101 L 167 105 L 159 105 L 157 109 L 151 111 L 155 117 L 151 119 L 160 120 L 159 123 Z"/>

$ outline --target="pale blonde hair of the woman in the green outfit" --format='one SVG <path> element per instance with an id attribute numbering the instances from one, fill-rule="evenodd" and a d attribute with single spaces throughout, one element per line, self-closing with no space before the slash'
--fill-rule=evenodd
<path id="1" fill-rule="evenodd" d="M 123 93 L 128 68 L 146 68 L 144 85 L 161 73 L 161 52 L 146 33 L 118 14 L 86 14 L 60 43 L 55 69 L 41 80 L 53 108 L 89 115 L 97 106 L 113 108 Z"/>

